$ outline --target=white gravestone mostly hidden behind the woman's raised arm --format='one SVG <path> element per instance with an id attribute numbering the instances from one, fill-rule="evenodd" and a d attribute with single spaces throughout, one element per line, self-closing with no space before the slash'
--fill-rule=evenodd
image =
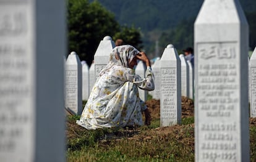
<path id="1" fill-rule="evenodd" d="M 139 61 L 138 65 L 135 68 L 135 74 L 139 75 L 142 78 L 145 78 L 145 71 L 147 66 L 142 61 Z M 139 95 L 140 99 L 142 99 L 144 102 L 147 100 L 147 91 L 144 91 L 143 89 L 139 89 Z"/>

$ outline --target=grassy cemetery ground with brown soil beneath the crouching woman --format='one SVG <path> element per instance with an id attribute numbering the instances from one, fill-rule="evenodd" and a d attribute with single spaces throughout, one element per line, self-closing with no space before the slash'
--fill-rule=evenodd
<path id="1" fill-rule="evenodd" d="M 182 97 L 182 122 L 160 128 L 160 100 L 147 100 L 150 126 L 96 129 L 67 115 L 67 161 L 194 161 L 194 102 Z M 84 103 L 83 103 L 84 105 Z M 256 161 L 256 118 L 250 119 L 250 161 Z"/>

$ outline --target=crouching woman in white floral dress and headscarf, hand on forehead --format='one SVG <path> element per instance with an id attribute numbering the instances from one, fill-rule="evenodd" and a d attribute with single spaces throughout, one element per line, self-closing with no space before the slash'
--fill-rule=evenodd
<path id="1" fill-rule="evenodd" d="M 145 78 L 134 74 L 137 59 L 147 65 Z M 150 124 L 150 113 L 140 100 L 138 87 L 146 91 L 155 89 L 150 60 L 132 46 L 115 47 L 108 65 L 100 71 L 77 124 L 86 129 L 142 126 L 142 111 L 145 124 Z"/>

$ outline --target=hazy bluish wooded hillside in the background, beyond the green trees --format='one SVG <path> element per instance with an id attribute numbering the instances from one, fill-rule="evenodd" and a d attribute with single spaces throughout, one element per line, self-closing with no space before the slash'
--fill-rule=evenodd
<path id="1" fill-rule="evenodd" d="M 90 0 L 93 1 L 93 0 Z M 155 41 L 160 38 L 160 54 L 167 44 L 172 43 L 177 50 L 194 46 L 194 21 L 202 6 L 203 0 L 98 0 L 103 6 L 116 15 L 121 25 L 134 25 L 142 32 L 142 41 L 148 55 L 155 53 Z M 247 12 L 250 25 L 250 48 L 256 46 L 255 0 L 240 0 Z M 253 14 L 254 13 L 254 14 Z"/>

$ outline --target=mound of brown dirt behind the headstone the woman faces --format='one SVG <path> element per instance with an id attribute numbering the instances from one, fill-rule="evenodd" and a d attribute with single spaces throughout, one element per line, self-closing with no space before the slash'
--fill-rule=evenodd
<path id="1" fill-rule="evenodd" d="M 150 110 L 150 115 L 153 119 L 160 118 L 160 100 L 147 100 L 146 105 Z M 194 116 L 194 101 L 187 97 L 181 98 L 182 118 Z"/>

